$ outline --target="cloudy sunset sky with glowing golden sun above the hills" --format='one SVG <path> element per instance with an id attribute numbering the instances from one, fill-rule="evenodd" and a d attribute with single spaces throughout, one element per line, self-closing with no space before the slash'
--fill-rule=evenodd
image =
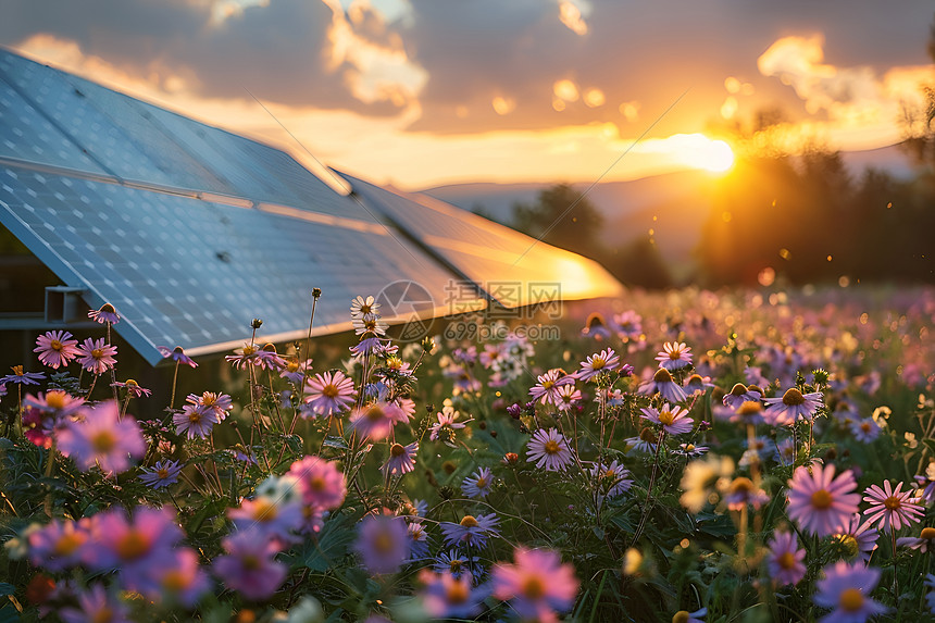
<path id="1" fill-rule="evenodd" d="M 0 0 L 0 15 L 1 46 L 407 190 L 880 148 L 935 84 L 931 0 Z"/>

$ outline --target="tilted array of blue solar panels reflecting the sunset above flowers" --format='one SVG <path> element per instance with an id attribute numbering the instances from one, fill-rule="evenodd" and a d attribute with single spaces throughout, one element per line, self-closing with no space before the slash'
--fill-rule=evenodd
<path id="1" fill-rule="evenodd" d="M 394 282 L 419 284 L 436 315 L 452 279 L 566 281 L 551 273 L 563 263 L 589 296 L 619 291 L 546 245 L 511 264 L 532 239 L 453 207 L 354 189 L 342 196 L 284 151 L 0 50 L 0 222 L 89 304 L 114 304 L 115 328 L 151 363 L 159 345 L 236 347 L 253 317 L 263 339 L 296 339 L 315 287 L 319 333 L 349 328 L 350 300 Z M 486 306 L 459 296 L 459 311 Z M 390 320 L 410 319 L 390 308 Z"/>

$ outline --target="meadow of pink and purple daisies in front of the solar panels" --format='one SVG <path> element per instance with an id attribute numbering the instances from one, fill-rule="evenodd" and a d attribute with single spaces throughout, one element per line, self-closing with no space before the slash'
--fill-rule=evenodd
<path id="1" fill-rule="evenodd" d="M 187 395 L 172 345 L 170 393 L 121 375 L 109 304 L 36 336 L 0 622 L 935 620 L 935 291 L 633 292 L 486 342 L 348 303 L 344 357 L 257 320 Z"/>

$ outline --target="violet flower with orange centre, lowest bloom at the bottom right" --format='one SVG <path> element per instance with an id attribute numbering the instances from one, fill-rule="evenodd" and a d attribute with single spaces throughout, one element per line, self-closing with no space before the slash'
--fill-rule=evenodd
<path id="1" fill-rule="evenodd" d="M 858 623 L 888 610 L 869 597 L 880 582 L 878 569 L 842 560 L 826 566 L 824 574 L 818 582 L 814 602 L 834 611 L 823 616 L 821 623 Z"/>

